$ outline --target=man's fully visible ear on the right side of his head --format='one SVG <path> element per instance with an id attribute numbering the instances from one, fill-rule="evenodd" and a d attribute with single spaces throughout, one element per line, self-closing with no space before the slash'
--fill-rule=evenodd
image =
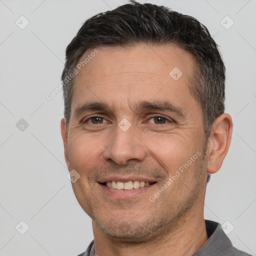
<path id="1" fill-rule="evenodd" d="M 207 147 L 207 172 L 215 173 L 219 170 L 226 156 L 232 136 L 232 118 L 229 114 L 219 115 L 211 128 L 211 135 Z"/>

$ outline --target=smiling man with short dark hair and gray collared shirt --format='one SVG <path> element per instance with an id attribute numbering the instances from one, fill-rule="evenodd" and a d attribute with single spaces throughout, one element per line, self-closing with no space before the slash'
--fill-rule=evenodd
<path id="1" fill-rule="evenodd" d="M 204 220 L 227 153 L 225 68 L 195 18 L 149 3 L 88 19 L 66 49 L 61 134 L 94 240 L 80 255 L 248 255 Z"/>

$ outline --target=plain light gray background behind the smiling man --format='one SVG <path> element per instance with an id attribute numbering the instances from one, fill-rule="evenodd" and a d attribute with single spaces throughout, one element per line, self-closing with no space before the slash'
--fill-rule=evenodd
<path id="1" fill-rule="evenodd" d="M 207 187 L 205 218 L 228 220 L 225 228 L 234 226 L 228 234 L 232 243 L 255 255 L 256 2 L 147 2 L 196 17 L 221 46 L 226 112 L 234 127 L 228 154 Z M 59 128 L 62 92 L 51 100 L 46 95 L 60 83 L 65 47 L 83 21 L 123 3 L 0 0 L 0 255 L 77 255 L 93 238 L 91 220 L 66 177 Z M 24 29 L 15 24 L 21 15 L 29 21 Z M 229 29 L 221 24 L 226 15 L 234 21 Z M 29 124 L 23 131 L 16 127 L 21 118 Z M 21 220 L 29 226 L 24 234 L 15 229 Z"/>

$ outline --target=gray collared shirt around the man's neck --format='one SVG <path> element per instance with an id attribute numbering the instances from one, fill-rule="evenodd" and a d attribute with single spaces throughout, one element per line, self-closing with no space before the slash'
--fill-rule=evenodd
<path id="1" fill-rule="evenodd" d="M 208 240 L 193 254 L 193 256 L 251 256 L 250 254 L 236 249 L 232 245 L 231 241 L 221 229 L 219 223 L 205 220 L 205 226 Z M 94 256 L 94 254 L 94 242 L 91 241 L 86 251 L 78 256 Z"/>

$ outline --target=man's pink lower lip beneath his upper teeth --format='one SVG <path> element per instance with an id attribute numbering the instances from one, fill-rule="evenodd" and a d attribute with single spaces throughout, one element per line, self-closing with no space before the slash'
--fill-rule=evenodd
<path id="1" fill-rule="evenodd" d="M 133 189 L 116 189 L 116 188 L 107 187 L 102 184 L 99 184 L 99 185 L 103 189 L 104 193 L 108 196 L 111 196 L 116 199 L 132 199 L 132 198 L 135 198 L 137 195 L 151 189 L 152 187 L 154 187 L 155 184 L 156 183 L 151 184 L 149 186 L 133 188 Z"/>

